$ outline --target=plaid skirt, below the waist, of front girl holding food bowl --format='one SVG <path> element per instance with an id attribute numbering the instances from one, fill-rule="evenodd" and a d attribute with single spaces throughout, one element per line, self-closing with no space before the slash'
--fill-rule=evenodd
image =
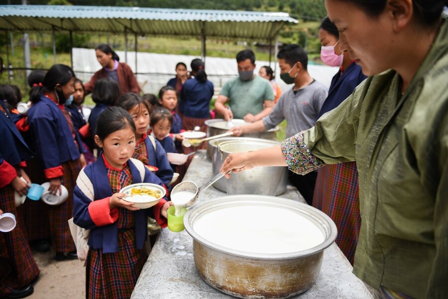
<path id="1" fill-rule="evenodd" d="M 86 298 L 130 298 L 148 258 L 135 248 L 134 229 L 118 232 L 118 252 L 89 249 L 86 260 Z"/>

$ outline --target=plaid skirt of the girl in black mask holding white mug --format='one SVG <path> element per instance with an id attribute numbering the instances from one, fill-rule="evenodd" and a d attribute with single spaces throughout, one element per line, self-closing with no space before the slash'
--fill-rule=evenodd
<path id="1" fill-rule="evenodd" d="M 76 251 L 68 220 L 73 217 L 73 190 L 81 171 L 81 163 L 78 160 L 64 162 L 62 163 L 62 168 L 64 169 L 62 184 L 67 188 L 69 195 L 64 203 L 49 206 L 48 216 L 54 249 L 56 252 L 67 254 Z"/>

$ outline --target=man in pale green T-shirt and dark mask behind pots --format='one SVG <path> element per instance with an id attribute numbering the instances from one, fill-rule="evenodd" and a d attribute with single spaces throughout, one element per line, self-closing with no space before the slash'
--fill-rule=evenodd
<path id="1" fill-rule="evenodd" d="M 255 76 L 255 54 L 251 50 L 236 55 L 239 76 L 225 82 L 215 103 L 218 113 L 226 121 L 244 119 L 255 122 L 271 113 L 274 107 L 274 92 L 268 81 Z M 229 109 L 224 104 L 229 103 Z"/>

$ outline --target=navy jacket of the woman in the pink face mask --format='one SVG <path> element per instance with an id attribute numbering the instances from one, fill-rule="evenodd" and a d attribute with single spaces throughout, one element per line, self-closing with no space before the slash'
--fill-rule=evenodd
<path id="1" fill-rule="evenodd" d="M 365 78 L 367 77 L 362 73 L 361 67 L 354 62 L 342 72 L 342 76 L 339 69 L 332 79 L 327 99 L 322 105 L 319 117 L 339 106 L 346 98 L 342 95 L 351 95 L 355 87 L 358 86 L 358 82 L 362 82 Z"/>

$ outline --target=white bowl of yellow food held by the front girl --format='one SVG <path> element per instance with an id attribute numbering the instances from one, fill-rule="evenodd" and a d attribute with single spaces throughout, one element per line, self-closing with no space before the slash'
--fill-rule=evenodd
<path id="1" fill-rule="evenodd" d="M 124 187 L 120 193 L 126 194 L 123 199 L 133 202 L 133 207 L 147 209 L 156 205 L 165 196 L 166 190 L 157 184 L 138 183 Z"/>

